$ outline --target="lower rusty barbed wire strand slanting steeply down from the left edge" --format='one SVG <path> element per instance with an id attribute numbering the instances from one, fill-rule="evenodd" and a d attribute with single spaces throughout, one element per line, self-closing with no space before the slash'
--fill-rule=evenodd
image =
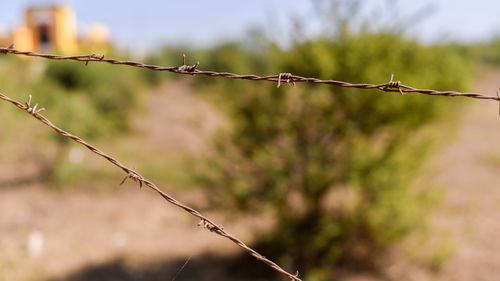
<path id="1" fill-rule="evenodd" d="M 250 255 L 252 255 L 253 257 L 255 257 L 257 260 L 262 261 L 263 263 L 267 264 L 269 267 L 271 267 L 272 269 L 274 269 L 274 270 L 278 271 L 279 273 L 283 274 L 284 276 L 286 276 L 290 280 L 292 280 L 292 281 L 302 281 L 298 276 L 295 276 L 295 275 L 292 275 L 292 274 L 288 273 L 287 271 L 285 271 L 284 269 L 282 269 L 279 265 L 277 265 L 273 261 L 271 261 L 268 258 L 264 257 L 263 255 L 259 254 L 254 249 L 248 247 L 245 243 L 243 243 L 243 241 L 241 241 L 240 239 L 238 239 L 235 236 L 233 236 L 233 235 L 229 234 L 228 232 L 226 232 L 223 227 L 217 225 L 214 221 L 212 221 L 211 219 L 205 217 L 204 215 L 202 215 L 197 210 L 195 210 L 195 209 L 193 209 L 193 208 L 191 208 L 191 207 L 189 207 L 187 205 L 184 205 L 183 203 L 181 203 L 180 201 L 178 201 L 174 197 L 172 197 L 169 194 L 165 193 L 160 188 L 158 188 L 153 182 L 151 182 L 148 179 L 144 178 L 143 176 L 141 176 L 135 170 L 133 170 L 133 169 L 131 169 L 131 168 L 123 165 L 117 159 L 113 158 L 112 156 L 107 155 L 106 153 L 102 152 L 99 148 L 97 148 L 97 147 L 95 147 L 95 146 L 87 143 L 86 141 L 84 141 L 83 139 L 79 138 L 78 136 L 72 135 L 72 134 L 70 134 L 70 133 L 68 133 L 68 132 L 60 129 L 56 125 L 54 125 L 52 122 L 50 122 L 49 119 L 47 119 L 45 116 L 43 116 L 43 115 L 40 114 L 40 111 L 42 111 L 41 109 L 36 110 L 37 105 L 35 105 L 33 108 L 30 107 L 31 95 L 30 95 L 30 97 L 28 99 L 28 102 L 25 105 L 23 105 L 21 102 L 19 102 L 17 100 L 9 98 L 8 96 L 6 96 L 6 95 L 4 95 L 2 93 L 0 93 L 0 99 L 4 100 L 4 101 L 7 101 L 7 102 L 10 102 L 11 104 L 17 106 L 19 109 L 28 112 L 30 115 L 32 115 L 33 117 L 35 117 L 36 119 L 38 119 L 42 123 L 44 123 L 45 125 L 47 125 L 50 128 L 52 128 L 59 135 L 61 135 L 63 137 L 66 137 L 66 138 L 70 138 L 73 141 L 75 141 L 75 142 L 77 142 L 77 143 L 85 146 L 86 148 L 88 148 L 93 153 L 95 153 L 95 154 L 103 157 L 104 159 L 106 159 L 109 162 L 111 162 L 113 165 L 115 165 L 118 168 L 122 169 L 127 174 L 126 177 L 125 177 L 125 179 L 122 181 L 122 184 L 125 182 L 126 179 L 130 178 L 130 179 L 132 179 L 132 180 L 134 180 L 136 182 L 139 182 L 139 184 L 141 185 L 141 187 L 142 187 L 142 184 L 146 185 L 147 187 L 151 188 L 152 190 L 154 190 L 158 194 L 160 194 L 160 196 L 162 196 L 170 204 L 172 204 L 172 205 L 174 205 L 174 206 L 176 206 L 176 207 L 178 207 L 180 209 L 183 209 L 184 211 L 188 212 L 189 214 L 193 215 L 194 217 L 197 217 L 198 219 L 200 219 L 202 221 L 203 226 L 206 229 L 208 229 L 211 232 L 216 233 L 216 234 L 218 234 L 218 235 L 220 235 L 222 237 L 225 237 L 225 238 L 231 240 L 233 243 L 235 243 L 236 245 L 238 245 L 239 247 L 241 247 L 247 253 L 249 253 Z"/>

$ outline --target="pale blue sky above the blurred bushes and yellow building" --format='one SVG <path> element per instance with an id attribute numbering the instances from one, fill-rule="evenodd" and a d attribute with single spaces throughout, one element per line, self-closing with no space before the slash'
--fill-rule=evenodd
<path id="1" fill-rule="evenodd" d="M 238 38 L 251 26 L 269 26 L 278 41 L 291 30 L 291 17 L 314 25 L 310 0 L 9 0 L 0 8 L 0 27 L 10 29 L 23 20 L 23 9 L 32 4 L 67 3 L 77 14 L 83 32 L 93 23 L 108 26 L 112 39 L 122 47 L 151 48 L 161 43 L 213 44 Z M 365 0 L 364 8 L 385 22 L 407 21 L 411 35 L 425 41 L 482 40 L 500 33 L 500 1 L 494 0 Z M 388 8 L 393 3 L 394 8 Z M 394 14 L 393 11 L 401 13 Z M 418 11 L 428 16 L 409 19 Z M 371 14 L 371 12 L 369 14 Z"/>

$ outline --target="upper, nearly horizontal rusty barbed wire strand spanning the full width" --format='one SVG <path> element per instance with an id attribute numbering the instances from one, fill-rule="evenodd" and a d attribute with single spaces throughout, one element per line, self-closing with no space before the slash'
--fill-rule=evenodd
<path id="1" fill-rule="evenodd" d="M 216 72 L 216 71 L 209 71 L 209 70 L 199 70 L 197 69 L 199 62 L 197 62 L 193 66 L 188 66 L 185 65 L 185 56 L 183 56 L 183 65 L 182 66 L 158 66 L 158 65 L 152 65 L 152 64 L 145 64 L 141 62 L 134 62 L 134 61 L 122 61 L 122 60 L 116 60 L 116 59 L 107 59 L 104 58 L 104 56 L 98 56 L 96 54 L 91 54 L 91 55 L 78 55 L 78 56 L 61 56 L 61 55 L 53 55 L 53 54 L 41 54 L 41 53 L 35 53 L 35 52 L 24 52 L 24 51 L 19 51 L 14 48 L 4 48 L 0 47 L 0 53 L 4 54 L 14 54 L 14 55 L 21 55 L 21 56 L 29 56 L 29 57 L 40 57 L 40 58 L 45 58 L 45 59 L 50 59 L 50 60 L 74 60 L 74 61 L 82 61 L 85 62 L 87 65 L 89 62 L 106 62 L 110 64 L 119 64 L 119 65 L 128 65 L 128 66 L 133 66 L 133 67 L 139 67 L 139 68 L 147 68 L 155 71 L 169 71 L 177 74 L 189 74 L 189 75 L 206 75 L 206 76 L 217 76 L 217 77 L 225 77 L 225 78 L 230 78 L 230 79 L 243 79 L 243 80 L 252 80 L 252 81 L 270 81 L 274 83 L 278 83 L 278 87 L 280 86 L 282 80 L 285 80 L 286 82 L 292 82 L 293 85 L 298 82 L 309 82 L 309 83 L 315 83 L 315 84 L 327 84 L 327 85 L 333 85 L 333 86 L 338 86 L 338 87 L 347 87 L 347 88 L 357 88 L 357 89 L 376 89 L 380 90 L 383 92 L 399 92 L 400 94 L 406 94 L 406 93 L 419 93 L 419 94 L 424 94 L 424 95 L 431 95 L 431 96 L 447 96 L 447 97 L 468 97 L 468 98 L 474 98 L 474 99 L 485 99 L 485 100 L 496 100 L 500 101 L 500 97 L 498 96 L 488 96 L 484 95 L 481 93 L 461 93 L 461 92 L 456 92 L 456 91 L 436 91 L 436 90 L 430 90 L 430 89 L 417 89 L 413 88 L 411 86 L 407 86 L 402 84 L 400 81 L 393 81 L 392 78 L 394 77 L 391 75 L 391 79 L 389 82 L 384 83 L 384 84 L 353 84 L 349 82 L 344 82 L 344 81 L 337 81 L 337 80 L 321 80 L 318 78 L 308 78 L 308 77 L 302 77 L 298 75 L 292 75 L 290 73 L 281 73 L 278 75 L 267 75 L 267 76 L 259 76 L 255 74 L 249 74 L 249 75 L 239 75 L 235 73 L 230 73 L 230 72 Z"/>

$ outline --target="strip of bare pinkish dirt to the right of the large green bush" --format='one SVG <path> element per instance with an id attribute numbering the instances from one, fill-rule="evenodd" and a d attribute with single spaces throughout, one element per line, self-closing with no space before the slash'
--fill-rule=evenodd
<path id="1" fill-rule="evenodd" d="M 500 70 L 482 69 L 475 90 L 494 95 Z M 437 218 L 449 228 L 456 253 L 438 280 L 500 278 L 500 117 L 495 102 L 471 102 L 459 133 L 434 160 L 434 182 L 446 190 Z"/>

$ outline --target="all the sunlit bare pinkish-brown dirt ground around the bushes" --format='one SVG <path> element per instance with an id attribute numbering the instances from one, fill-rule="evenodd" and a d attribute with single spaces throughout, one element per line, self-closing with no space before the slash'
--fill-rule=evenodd
<path id="1" fill-rule="evenodd" d="M 499 69 L 481 70 L 475 90 L 494 94 L 500 89 L 497 77 Z M 468 104 L 457 118 L 463 123 L 458 132 L 429 164 L 437 171 L 430 182 L 446 195 L 433 225 L 446 233 L 450 257 L 437 271 L 394 259 L 384 268 L 391 280 L 500 278 L 499 109 L 491 101 Z M 183 106 L 192 107 L 196 116 L 178 110 Z M 207 104 L 192 97 L 185 81 L 150 95 L 148 108 L 151 114 L 137 120 L 147 126 L 131 142 L 193 151 L 203 144 L 200 130 L 208 135 L 219 122 Z M 169 133 L 155 133 L 160 126 Z M 192 191 L 164 189 L 187 202 L 199 198 Z M 249 228 L 265 227 L 258 218 L 210 215 L 246 241 L 252 241 Z M 54 192 L 36 184 L 3 188 L 0 280 L 261 280 L 260 272 L 268 269 L 242 261 L 239 248 L 197 223 L 133 183 L 113 193 Z M 248 268 L 252 275 L 239 274 L 248 274 Z M 382 279 L 359 273 L 344 280 Z"/>

